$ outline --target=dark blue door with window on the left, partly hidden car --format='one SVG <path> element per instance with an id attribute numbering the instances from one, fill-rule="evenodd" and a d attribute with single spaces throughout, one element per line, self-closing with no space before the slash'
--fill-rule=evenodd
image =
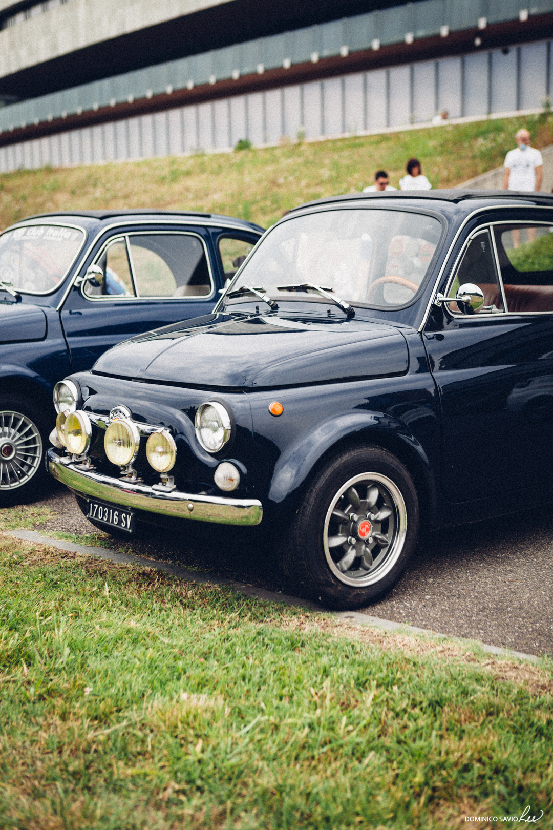
<path id="1" fill-rule="evenodd" d="M 93 259 L 102 276 L 75 284 L 61 310 L 73 371 L 90 369 L 123 339 L 211 312 L 220 280 L 209 251 L 192 230 L 129 229 L 104 239 Z"/>

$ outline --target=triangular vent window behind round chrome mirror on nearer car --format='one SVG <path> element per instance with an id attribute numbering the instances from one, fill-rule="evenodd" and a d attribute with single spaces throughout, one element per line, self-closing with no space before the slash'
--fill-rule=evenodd
<path id="1" fill-rule="evenodd" d="M 479 231 L 469 240 L 458 264 L 448 296 L 454 297 L 458 288 L 466 283 L 473 283 L 483 292 L 484 304 L 479 314 L 504 310 L 492 237 L 488 228 Z M 449 303 L 449 310 L 457 311 L 457 304 Z"/>

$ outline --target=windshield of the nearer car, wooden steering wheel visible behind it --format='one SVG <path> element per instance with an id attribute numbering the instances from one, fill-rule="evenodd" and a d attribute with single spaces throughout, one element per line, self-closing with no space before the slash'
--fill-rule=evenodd
<path id="1" fill-rule="evenodd" d="M 308 283 L 347 302 L 397 308 L 418 293 L 441 232 L 434 217 L 391 209 L 290 217 L 253 251 L 229 293 L 250 286 L 271 297 L 313 296 Z M 303 287 L 291 293 L 286 286 Z M 244 290 L 226 302 L 252 300 Z"/>

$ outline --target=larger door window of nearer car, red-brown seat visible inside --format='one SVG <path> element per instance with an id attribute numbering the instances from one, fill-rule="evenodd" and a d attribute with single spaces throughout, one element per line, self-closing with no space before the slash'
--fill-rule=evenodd
<path id="1" fill-rule="evenodd" d="M 521 222 L 495 234 L 507 311 L 553 311 L 553 227 Z"/>

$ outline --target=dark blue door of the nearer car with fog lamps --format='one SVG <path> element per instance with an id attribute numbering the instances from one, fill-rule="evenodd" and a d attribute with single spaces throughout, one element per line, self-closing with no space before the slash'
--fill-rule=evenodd
<path id="1" fill-rule="evenodd" d="M 521 208 L 512 222 L 491 222 L 470 235 L 445 293 L 453 297 L 463 283 L 477 284 L 483 308 L 465 315 L 445 302 L 424 330 L 441 406 L 442 488 L 453 502 L 551 485 L 553 234 L 547 222 L 527 216 Z M 517 271 L 507 256 L 517 251 L 513 232 L 526 245 L 519 262 L 535 246 L 526 228 L 536 228 L 535 239 L 550 246 L 541 242 L 547 250 L 536 253 L 546 266 L 538 276 Z M 531 291 L 538 277 L 545 284 Z"/>

